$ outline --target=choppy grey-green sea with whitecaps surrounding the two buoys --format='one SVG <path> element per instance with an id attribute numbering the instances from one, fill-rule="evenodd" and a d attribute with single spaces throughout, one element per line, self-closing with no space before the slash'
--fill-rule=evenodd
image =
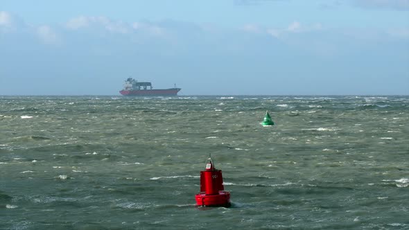
<path id="1" fill-rule="evenodd" d="M 409 229 L 409 96 L 0 96 L 0 229 Z"/>

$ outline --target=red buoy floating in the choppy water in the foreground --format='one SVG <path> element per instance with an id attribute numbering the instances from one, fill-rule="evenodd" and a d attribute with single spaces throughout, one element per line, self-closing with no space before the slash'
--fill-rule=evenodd
<path id="1" fill-rule="evenodd" d="M 198 206 L 230 206 L 230 193 L 224 191 L 222 170 L 214 168 L 211 157 L 206 170 L 200 171 L 200 193 L 195 195 Z"/>

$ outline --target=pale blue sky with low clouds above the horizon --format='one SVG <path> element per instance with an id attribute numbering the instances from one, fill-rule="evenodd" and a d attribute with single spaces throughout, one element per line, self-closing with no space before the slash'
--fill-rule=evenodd
<path id="1" fill-rule="evenodd" d="M 0 0 L 0 95 L 409 95 L 409 0 Z"/>

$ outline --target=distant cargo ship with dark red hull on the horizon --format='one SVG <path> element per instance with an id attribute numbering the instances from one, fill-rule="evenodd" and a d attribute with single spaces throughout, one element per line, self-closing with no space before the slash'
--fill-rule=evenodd
<path id="1" fill-rule="evenodd" d="M 119 91 L 123 96 L 177 96 L 180 88 L 153 89 L 150 82 L 138 82 L 133 78 L 128 78 L 123 84 L 123 89 Z"/>

